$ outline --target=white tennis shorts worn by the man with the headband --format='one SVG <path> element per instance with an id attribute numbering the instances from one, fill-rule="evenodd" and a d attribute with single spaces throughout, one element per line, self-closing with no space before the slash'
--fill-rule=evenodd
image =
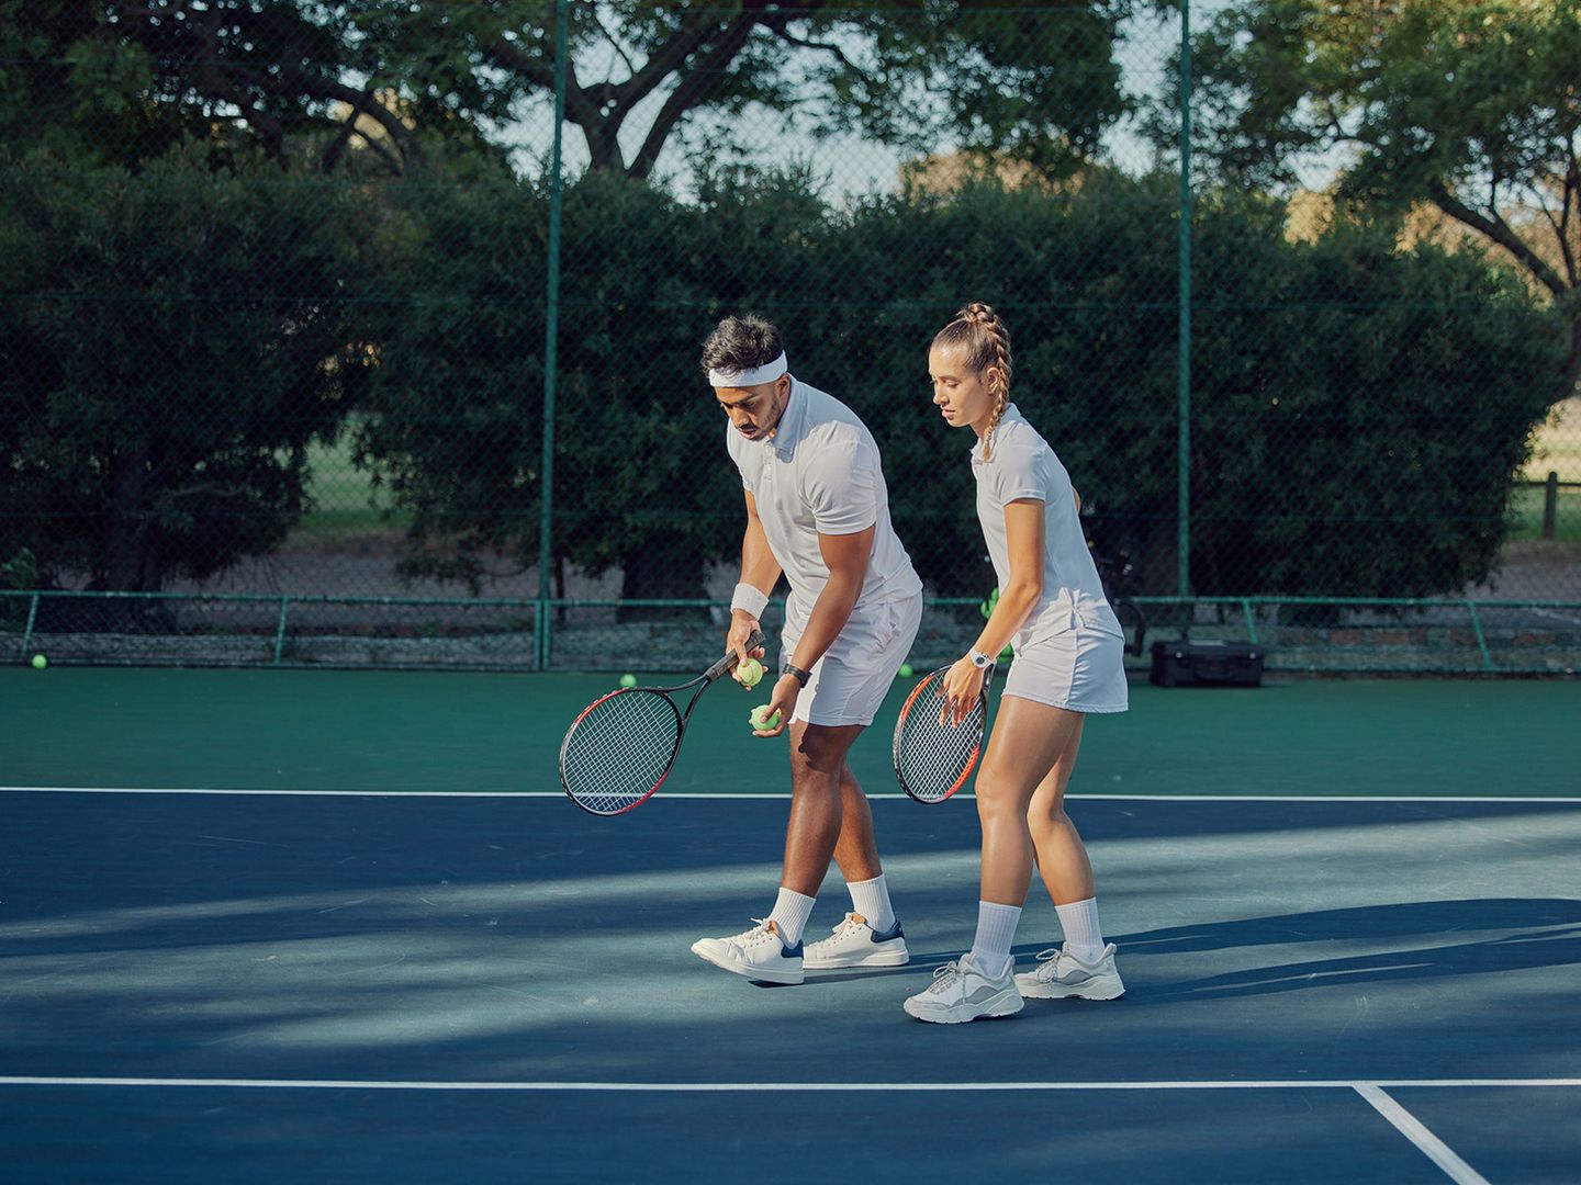
<path id="1" fill-rule="evenodd" d="M 835 645 L 813 664 L 813 678 L 797 697 L 790 722 L 873 724 L 895 684 L 895 673 L 911 654 L 920 624 L 920 592 L 906 600 L 854 608 Z M 781 654 L 795 654 L 802 629 L 802 623 L 786 623 L 779 635 Z"/>

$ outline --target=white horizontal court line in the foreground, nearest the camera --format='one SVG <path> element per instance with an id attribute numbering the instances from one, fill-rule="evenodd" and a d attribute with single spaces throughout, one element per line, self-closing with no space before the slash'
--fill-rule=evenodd
<path id="1" fill-rule="evenodd" d="M 1225 1081 L 1159 1081 L 1159 1082 L 479 1082 L 479 1081 L 367 1081 L 337 1078 L 58 1078 L 58 1076 L 0 1076 L 0 1087 L 8 1085 L 79 1085 L 79 1087 L 198 1087 L 237 1090 L 607 1090 L 607 1092 L 669 1092 L 669 1093 L 775 1093 L 795 1090 L 822 1092 L 873 1092 L 873 1090 L 1356 1090 L 1369 1103 L 1366 1090 L 1382 1087 L 1581 1087 L 1581 1078 L 1401 1078 L 1380 1081 L 1330 1079 L 1306 1082 L 1301 1079 L 1225 1079 Z M 1393 1100 L 1390 1100 L 1393 1101 Z M 1377 1106 L 1377 1103 L 1374 1103 Z M 1398 1106 L 1398 1104 L 1396 1104 Z M 1393 1120 L 1391 1120 L 1393 1122 Z M 1426 1128 L 1423 1128 L 1426 1131 Z M 1429 1133 L 1431 1134 L 1431 1133 Z"/>

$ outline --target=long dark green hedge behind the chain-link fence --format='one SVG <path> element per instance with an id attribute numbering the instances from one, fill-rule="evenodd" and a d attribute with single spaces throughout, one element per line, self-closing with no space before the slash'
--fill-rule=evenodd
<path id="1" fill-rule="evenodd" d="M 3 185 L 0 564 L 25 551 L 44 581 L 158 588 L 267 551 L 305 506 L 305 444 L 351 408 L 359 461 L 411 514 L 408 572 L 536 562 L 541 190 L 182 161 L 138 179 L 11 164 Z M 555 556 L 621 570 L 631 597 L 699 596 L 734 559 L 740 483 L 697 351 L 757 310 L 794 371 L 873 428 L 933 591 L 982 594 L 969 439 L 934 414 L 925 363 L 979 299 L 1009 322 L 1015 398 L 1094 529 L 1137 558 L 1138 591 L 1173 592 L 1173 180 L 814 193 L 735 174 L 688 202 L 599 175 L 566 193 Z M 1406 597 L 1486 577 L 1546 412 L 1549 314 L 1475 253 L 1398 251 L 1388 228 L 1290 242 L 1265 201 L 1205 201 L 1195 245 L 1197 591 Z"/>

